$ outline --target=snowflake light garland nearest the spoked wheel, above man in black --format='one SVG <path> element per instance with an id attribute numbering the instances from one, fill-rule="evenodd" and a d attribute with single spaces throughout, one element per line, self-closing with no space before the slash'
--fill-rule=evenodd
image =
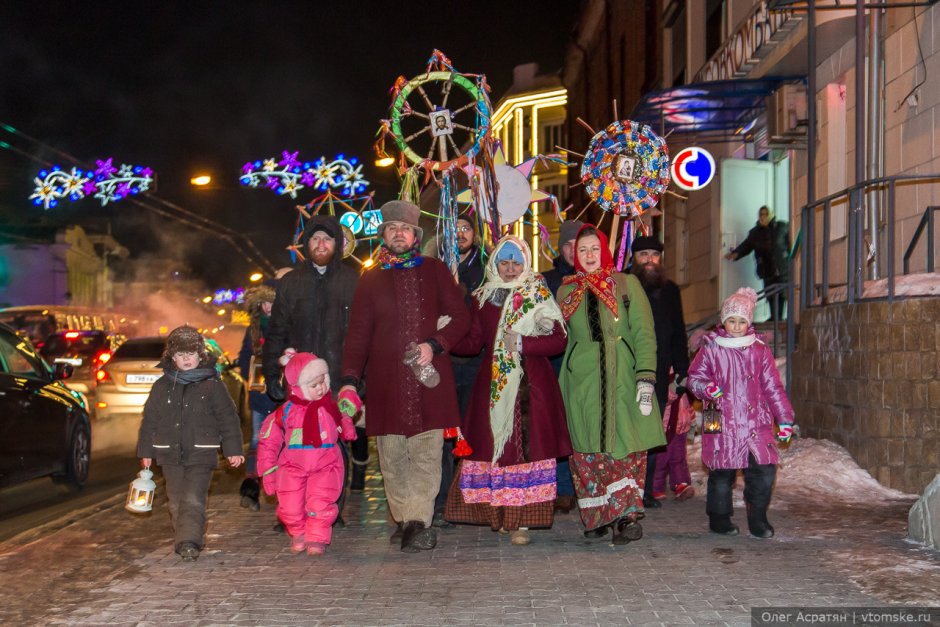
<path id="1" fill-rule="evenodd" d="M 248 187 L 267 187 L 280 195 L 297 198 L 297 192 L 305 187 L 321 191 L 340 190 L 344 196 L 355 196 L 369 186 L 369 181 L 362 176 L 362 164 L 355 157 L 347 159 L 336 155 L 333 161 L 320 157 L 313 163 L 297 158 L 297 152 L 281 153 L 276 158 L 252 161 L 242 166 L 239 177 L 242 185 Z"/>

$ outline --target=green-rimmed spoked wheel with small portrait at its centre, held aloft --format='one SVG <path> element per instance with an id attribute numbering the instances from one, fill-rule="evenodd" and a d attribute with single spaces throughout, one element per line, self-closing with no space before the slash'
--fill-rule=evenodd
<path id="1" fill-rule="evenodd" d="M 490 103 L 476 82 L 455 72 L 421 74 L 392 103 L 391 134 L 412 163 L 433 170 L 461 167 L 490 129 Z"/>

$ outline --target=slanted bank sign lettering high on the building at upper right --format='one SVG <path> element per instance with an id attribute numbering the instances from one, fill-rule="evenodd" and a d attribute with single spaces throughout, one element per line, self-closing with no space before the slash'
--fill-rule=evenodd
<path id="1" fill-rule="evenodd" d="M 761 46 L 768 43 L 791 19 L 794 19 L 792 11 L 771 11 L 767 8 L 767 0 L 761 0 L 744 24 L 725 40 L 724 45 L 695 75 L 694 82 L 725 81 L 743 76 L 760 58 L 757 51 Z"/>

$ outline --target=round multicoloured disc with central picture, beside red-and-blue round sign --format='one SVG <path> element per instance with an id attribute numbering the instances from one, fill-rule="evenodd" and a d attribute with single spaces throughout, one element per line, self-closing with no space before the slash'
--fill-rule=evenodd
<path id="1" fill-rule="evenodd" d="M 596 133 L 581 164 L 581 182 L 594 202 L 628 218 L 655 207 L 669 180 L 666 140 L 630 120 Z"/>

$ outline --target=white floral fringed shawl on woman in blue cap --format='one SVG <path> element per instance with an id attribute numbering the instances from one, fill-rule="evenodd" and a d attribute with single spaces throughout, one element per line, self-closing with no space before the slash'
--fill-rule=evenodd
<path id="1" fill-rule="evenodd" d="M 497 270 L 496 259 L 499 249 L 507 242 L 515 244 L 522 251 L 525 260 L 522 273 L 510 282 L 503 281 Z M 542 275 L 532 271 L 532 253 L 528 245 L 514 235 L 507 235 L 496 243 L 486 264 L 486 281 L 477 288 L 473 295 L 480 307 L 498 289 L 511 290 L 503 302 L 503 309 L 496 327 L 493 342 L 493 376 L 490 383 L 490 429 L 493 432 L 493 463 L 502 454 L 509 436 L 512 435 L 512 423 L 515 415 L 516 395 L 522 381 L 522 355 L 506 348 L 506 331 L 515 331 L 520 335 L 547 335 L 537 324 L 539 321 L 557 321 L 564 328 L 565 321 L 561 310 Z M 545 322 L 543 322 L 543 325 Z"/>

